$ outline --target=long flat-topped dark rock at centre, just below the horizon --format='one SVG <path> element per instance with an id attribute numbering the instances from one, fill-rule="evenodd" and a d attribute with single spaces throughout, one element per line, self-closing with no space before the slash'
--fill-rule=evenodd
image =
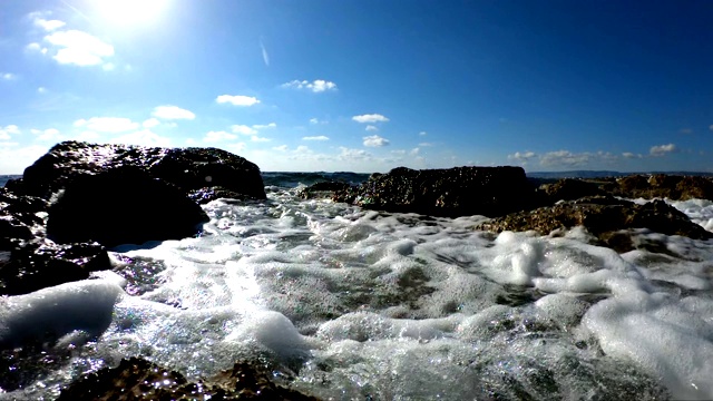
<path id="1" fill-rule="evenodd" d="M 535 189 L 520 167 L 394 168 L 334 199 L 389 212 L 500 216 L 531 207 Z"/>

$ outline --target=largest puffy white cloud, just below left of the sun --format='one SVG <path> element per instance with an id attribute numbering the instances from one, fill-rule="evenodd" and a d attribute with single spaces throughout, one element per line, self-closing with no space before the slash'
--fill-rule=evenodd
<path id="1" fill-rule="evenodd" d="M 97 66 L 105 63 L 105 58 L 114 56 L 114 46 L 78 30 L 53 32 L 46 36 L 45 40 L 57 48 L 52 58 L 59 63 Z"/>

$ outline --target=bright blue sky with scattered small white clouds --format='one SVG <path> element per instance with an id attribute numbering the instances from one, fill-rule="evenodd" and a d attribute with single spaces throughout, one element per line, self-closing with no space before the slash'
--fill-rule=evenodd
<path id="1" fill-rule="evenodd" d="M 0 174 L 66 139 L 262 170 L 713 170 L 713 2 L 0 4 Z"/>

